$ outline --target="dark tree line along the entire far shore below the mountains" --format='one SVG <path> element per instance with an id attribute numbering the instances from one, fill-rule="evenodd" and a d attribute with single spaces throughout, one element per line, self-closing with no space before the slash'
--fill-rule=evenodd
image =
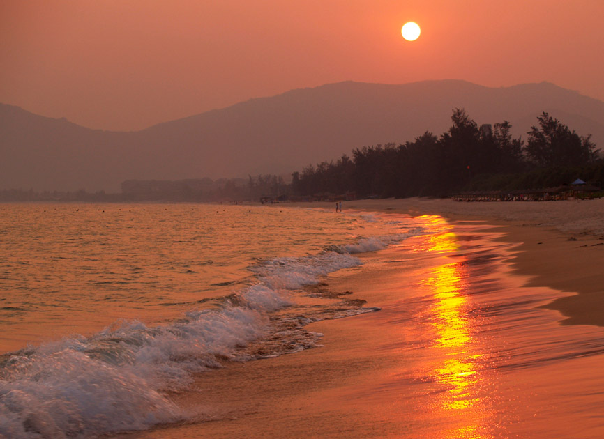
<path id="1" fill-rule="evenodd" d="M 555 187 L 576 178 L 604 187 L 604 161 L 591 135 L 582 137 L 543 113 L 513 138 L 508 121 L 478 126 L 454 109 L 451 128 L 405 144 L 363 146 L 338 160 L 312 164 L 291 183 L 272 174 L 248 179 L 126 180 L 121 194 L 0 190 L 0 201 L 243 201 L 326 197 L 444 197 L 464 190 Z"/>

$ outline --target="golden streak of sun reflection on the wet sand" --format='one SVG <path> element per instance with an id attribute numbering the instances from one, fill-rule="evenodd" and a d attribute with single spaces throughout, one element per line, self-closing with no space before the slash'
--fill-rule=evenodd
<path id="1" fill-rule="evenodd" d="M 430 236 L 431 252 L 455 252 L 459 248 L 457 237 L 451 231 L 452 226 L 444 219 L 430 219 L 442 233 Z M 481 353 L 472 352 L 475 340 L 471 334 L 471 323 L 467 316 L 467 272 L 465 258 L 455 263 L 439 265 L 432 270 L 425 286 L 431 288 L 436 300 L 432 311 L 437 332 L 435 346 L 442 351 L 444 361 L 432 371 L 432 376 L 446 386 L 441 408 L 451 413 L 459 412 L 451 430 L 444 432 L 448 438 L 490 438 L 485 432 L 488 408 L 479 393 L 478 364 Z M 459 424 L 462 424 L 461 426 Z"/>

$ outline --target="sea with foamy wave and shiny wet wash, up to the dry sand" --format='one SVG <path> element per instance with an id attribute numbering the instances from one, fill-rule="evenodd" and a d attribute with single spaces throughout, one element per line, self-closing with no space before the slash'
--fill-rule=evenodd
<path id="1" fill-rule="evenodd" d="M 0 206 L 0 438 L 598 438 L 604 330 L 479 223 Z M 322 333 L 325 332 L 326 335 Z"/>

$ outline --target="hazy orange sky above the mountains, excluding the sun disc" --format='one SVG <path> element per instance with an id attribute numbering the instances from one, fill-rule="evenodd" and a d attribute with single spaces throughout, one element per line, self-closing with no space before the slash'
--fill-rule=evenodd
<path id="1" fill-rule="evenodd" d="M 0 0 L 0 102 L 137 130 L 345 80 L 604 100 L 603 17 L 603 0 Z"/>

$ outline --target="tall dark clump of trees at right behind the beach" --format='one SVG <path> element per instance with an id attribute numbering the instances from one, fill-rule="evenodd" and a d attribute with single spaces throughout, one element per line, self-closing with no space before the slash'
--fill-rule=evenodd
<path id="1" fill-rule="evenodd" d="M 591 135 L 582 137 L 545 112 L 537 120 L 524 141 L 513 138 L 508 121 L 478 127 L 464 109 L 454 109 L 451 128 L 439 137 L 425 132 L 405 144 L 363 146 L 352 157 L 308 165 L 292 174 L 292 192 L 442 197 L 461 190 L 556 186 L 579 176 L 604 183 Z"/>

